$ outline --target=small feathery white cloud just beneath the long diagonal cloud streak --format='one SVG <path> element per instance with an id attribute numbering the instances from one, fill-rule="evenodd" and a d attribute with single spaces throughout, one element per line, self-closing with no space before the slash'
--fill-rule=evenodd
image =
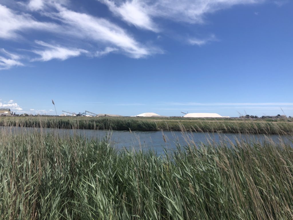
<path id="1" fill-rule="evenodd" d="M 51 45 L 43 41 L 35 41 L 38 45 L 43 46 L 44 50 L 32 50 L 33 53 L 40 55 L 40 58 L 35 58 L 32 61 L 49 61 L 52 59 L 66 60 L 69 57 L 76 57 L 81 53 L 88 53 L 88 51 L 76 48 L 66 48 L 60 45 Z"/>

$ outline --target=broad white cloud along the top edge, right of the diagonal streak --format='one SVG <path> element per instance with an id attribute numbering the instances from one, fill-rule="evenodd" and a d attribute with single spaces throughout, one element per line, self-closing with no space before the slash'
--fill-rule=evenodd
<path id="1" fill-rule="evenodd" d="M 127 23 L 158 31 L 154 18 L 167 18 L 176 22 L 204 23 L 204 16 L 237 4 L 256 4 L 265 0 L 157 0 L 139 1 L 99 0 L 110 11 L 122 17 Z"/>

